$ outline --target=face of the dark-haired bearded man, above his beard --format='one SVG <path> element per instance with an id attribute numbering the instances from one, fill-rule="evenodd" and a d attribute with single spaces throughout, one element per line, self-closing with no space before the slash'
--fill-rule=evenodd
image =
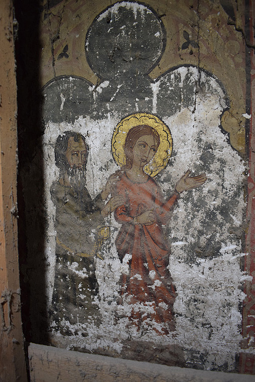
<path id="1" fill-rule="evenodd" d="M 80 139 L 78 142 L 74 141 L 74 137 L 70 137 L 68 139 L 66 159 L 70 166 L 70 169 L 72 169 L 73 167 L 78 169 L 85 169 L 87 155 L 87 147 L 82 139 Z"/>

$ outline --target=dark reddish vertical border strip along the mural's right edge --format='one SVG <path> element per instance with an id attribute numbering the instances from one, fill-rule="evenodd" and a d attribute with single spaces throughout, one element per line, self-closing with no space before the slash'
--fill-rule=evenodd
<path id="1" fill-rule="evenodd" d="M 246 107 L 251 118 L 246 122 L 247 131 L 247 157 L 249 161 L 248 188 L 247 188 L 247 221 L 248 229 L 246 232 L 246 257 L 244 270 L 251 277 L 246 282 L 244 291 L 246 298 L 243 302 L 243 322 L 242 334 L 244 337 L 243 348 L 254 347 L 251 338 L 255 333 L 255 37 L 254 37 L 254 14 L 255 3 L 246 1 L 245 7 L 245 36 L 246 39 L 246 74 L 247 74 L 247 95 Z M 255 355 L 249 352 L 240 355 L 240 372 L 255 374 Z"/>

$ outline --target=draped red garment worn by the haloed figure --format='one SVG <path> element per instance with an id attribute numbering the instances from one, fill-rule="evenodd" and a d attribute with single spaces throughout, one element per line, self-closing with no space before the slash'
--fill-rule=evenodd
<path id="1" fill-rule="evenodd" d="M 154 320 L 161 325 L 160 334 L 175 330 L 173 303 L 175 288 L 167 269 L 169 248 L 164 238 L 162 224 L 170 218 L 170 210 L 178 198 L 173 194 L 164 200 L 161 190 L 152 178 L 145 183 L 133 183 L 124 174 L 118 182 L 117 192 L 126 199 L 115 211 L 116 220 L 122 224 L 116 238 L 116 248 L 121 261 L 126 254 L 129 274 L 122 275 L 122 295 L 129 296 L 131 304 L 149 306 L 149 313 L 132 309 L 130 320 L 139 327 L 142 321 Z M 150 225 L 135 224 L 133 218 L 153 210 L 156 221 Z M 127 294 L 126 294 L 127 293 Z"/>

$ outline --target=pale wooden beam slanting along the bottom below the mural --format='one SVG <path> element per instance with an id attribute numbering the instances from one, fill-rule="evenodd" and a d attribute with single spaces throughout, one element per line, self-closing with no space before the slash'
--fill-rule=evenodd
<path id="1" fill-rule="evenodd" d="M 30 344 L 31 382 L 254 382 L 254 376 L 182 369 Z"/>

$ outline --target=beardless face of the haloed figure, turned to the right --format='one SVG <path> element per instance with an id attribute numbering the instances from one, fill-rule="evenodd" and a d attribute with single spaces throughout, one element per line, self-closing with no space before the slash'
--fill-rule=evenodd
<path id="1" fill-rule="evenodd" d="M 142 135 L 133 147 L 133 165 L 145 166 L 157 151 L 157 141 L 153 135 Z"/>

